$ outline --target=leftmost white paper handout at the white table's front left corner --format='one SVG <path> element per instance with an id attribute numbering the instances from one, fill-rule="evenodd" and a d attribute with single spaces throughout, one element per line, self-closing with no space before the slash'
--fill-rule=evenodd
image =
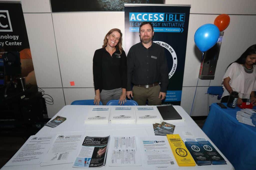
<path id="1" fill-rule="evenodd" d="M 5 166 L 39 164 L 43 155 L 49 150 L 54 136 L 49 134 L 30 136 Z"/>

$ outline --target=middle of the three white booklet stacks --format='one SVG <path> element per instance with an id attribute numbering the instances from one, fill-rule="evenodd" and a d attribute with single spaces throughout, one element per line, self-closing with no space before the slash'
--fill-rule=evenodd
<path id="1" fill-rule="evenodd" d="M 134 124 L 134 108 L 131 106 L 118 106 L 112 108 L 110 122 L 119 124 Z"/>

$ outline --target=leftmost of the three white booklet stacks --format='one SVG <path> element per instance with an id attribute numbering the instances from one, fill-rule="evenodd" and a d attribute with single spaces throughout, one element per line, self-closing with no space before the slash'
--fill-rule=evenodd
<path id="1" fill-rule="evenodd" d="M 110 107 L 93 107 L 88 110 L 84 123 L 86 124 L 108 124 Z"/>

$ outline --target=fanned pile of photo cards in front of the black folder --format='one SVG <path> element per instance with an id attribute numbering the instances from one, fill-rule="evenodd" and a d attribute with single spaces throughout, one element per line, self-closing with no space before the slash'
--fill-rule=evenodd
<path id="1" fill-rule="evenodd" d="M 173 134 L 175 125 L 162 122 L 153 124 L 154 133 L 156 136 L 166 136 L 167 134 Z"/>

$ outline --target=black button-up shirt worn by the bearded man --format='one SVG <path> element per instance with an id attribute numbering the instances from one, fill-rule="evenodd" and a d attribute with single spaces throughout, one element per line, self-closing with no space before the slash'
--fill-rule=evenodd
<path id="1" fill-rule="evenodd" d="M 127 55 L 127 87 L 131 91 L 133 84 L 153 84 L 161 82 L 161 92 L 166 93 L 169 78 L 164 48 L 152 42 L 145 48 L 142 43 L 133 45 Z"/>

